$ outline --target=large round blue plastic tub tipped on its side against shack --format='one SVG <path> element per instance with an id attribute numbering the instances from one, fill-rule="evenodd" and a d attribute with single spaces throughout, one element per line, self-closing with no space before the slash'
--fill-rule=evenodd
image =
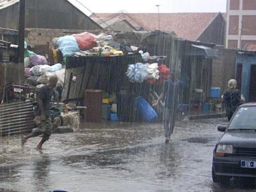
<path id="1" fill-rule="evenodd" d="M 143 120 L 150 122 L 157 117 L 156 111 L 142 97 L 135 99 L 135 105 Z"/>

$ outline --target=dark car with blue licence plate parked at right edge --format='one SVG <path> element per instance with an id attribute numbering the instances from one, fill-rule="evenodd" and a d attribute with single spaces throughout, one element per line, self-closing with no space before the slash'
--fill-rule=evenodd
<path id="1" fill-rule="evenodd" d="M 239 106 L 227 127 L 218 126 L 218 131 L 224 134 L 213 151 L 213 182 L 256 178 L 256 103 Z"/>

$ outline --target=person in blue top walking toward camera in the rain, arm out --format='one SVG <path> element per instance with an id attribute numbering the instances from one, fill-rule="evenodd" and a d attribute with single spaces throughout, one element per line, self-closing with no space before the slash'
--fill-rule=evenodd
<path id="1" fill-rule="evenodd" d="M 153 101 L 152 105 L 158 105 L 160 100 L 165 101 L 164 109 L 164 136 L 165 143 L 169 143 L 171 134 L 173 133 L 176 116 L 178 113 L 178 93 L 179 82 L 175 80 L 174 74 L 170 74 L 170 79 L 164 81 L 163 91 L 159 98 Z"/>

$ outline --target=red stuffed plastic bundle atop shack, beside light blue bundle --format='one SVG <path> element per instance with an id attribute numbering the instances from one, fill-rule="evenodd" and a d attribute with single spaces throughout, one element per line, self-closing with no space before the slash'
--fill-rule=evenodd
<path id="1" fill-rule="evenodd" d="M 82 51 L 97 47 L 97 41 L 92 33 L 84 32 L 80 34 L 73 34 L 72 36 L 75 37 L 79 49 Z"/>

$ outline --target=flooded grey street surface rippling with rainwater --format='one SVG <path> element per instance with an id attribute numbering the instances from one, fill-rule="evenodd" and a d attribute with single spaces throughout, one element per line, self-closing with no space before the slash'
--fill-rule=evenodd
<path id="1" fill-rule="evenodd" d="M 0 191 L 254 191 L 213 184 L 212 151 L 225 119 L 177 122 L 169 144 L 162 124 L 84 124 L 54 134 L 40 152 L 33 138 L 0 138 Z"/>

